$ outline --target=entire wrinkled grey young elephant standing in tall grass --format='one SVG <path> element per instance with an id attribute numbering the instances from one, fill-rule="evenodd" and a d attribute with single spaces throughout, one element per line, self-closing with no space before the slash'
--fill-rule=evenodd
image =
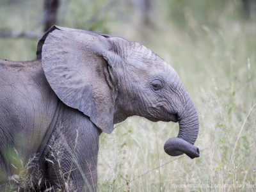
<path id="1" fill-rule="evenodd" d="M 132 115 L 179 122 L 178 137 L 164 150 L 199 156 L 193 102 L 175 70 L 143 45 L 53 26 L 38 42 L 37 58 L 0 60 L 0 168 L 6 175 L 15 178 L 17 159 L 26 166 L 34 156 L 26 168 L 35 186 L 41 179 L 44 188 L 96 191 L 99 135 Z"/>

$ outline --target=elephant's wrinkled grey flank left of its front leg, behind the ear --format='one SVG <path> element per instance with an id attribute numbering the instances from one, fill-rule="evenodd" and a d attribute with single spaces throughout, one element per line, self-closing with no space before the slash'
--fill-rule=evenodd
<path id="1" fill-rule="evenodd" d="M 36 152 L 42 138 L 47 140 L 45 134 L 58 108 L 58 97 L 40 61 L 0 61 L 0 103 L 0 132 L 8 130 L 0 145 L 15 141 L 17 150 Z"/>

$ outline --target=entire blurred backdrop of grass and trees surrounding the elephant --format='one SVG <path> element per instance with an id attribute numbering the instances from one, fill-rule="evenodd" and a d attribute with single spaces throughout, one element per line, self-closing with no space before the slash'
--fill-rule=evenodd
<path id="1" fill-rule="evenodd" d="M 1 0 L 0 58 L 29 61 L 52 24 L 138 41 L 177 71 L 200 117 L 200 158 L 170 157 L 173 123 L 102 134 L 99 191 L 256 190 L 256 1 Z M 186 188 L 185 188 L 186 187 Z"/>

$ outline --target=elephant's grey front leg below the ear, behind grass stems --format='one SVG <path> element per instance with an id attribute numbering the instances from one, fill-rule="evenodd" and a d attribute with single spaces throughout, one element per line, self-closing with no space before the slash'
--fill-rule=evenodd
<path id="1" fill-rule="evenodd" d="M 61 119 L 44 155 L 49 186 L 71 191 L 97 191 L 101 131 L 76 109 L 66 109 Z"/>

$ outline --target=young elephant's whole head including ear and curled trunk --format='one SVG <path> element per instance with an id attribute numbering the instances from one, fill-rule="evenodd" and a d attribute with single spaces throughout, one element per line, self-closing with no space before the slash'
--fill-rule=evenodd
<path id="1" fill-rule="evenodd" d="M 170 65 L 138 42 L 53 26 L 38 42 L 37 58 L 59 99 L 99 129 L 132 115 L 179 122 L 177 138 L 164 144 L 171 156 L 199 157 L 193 144 L 199 123 L 195 106 Z"/>

